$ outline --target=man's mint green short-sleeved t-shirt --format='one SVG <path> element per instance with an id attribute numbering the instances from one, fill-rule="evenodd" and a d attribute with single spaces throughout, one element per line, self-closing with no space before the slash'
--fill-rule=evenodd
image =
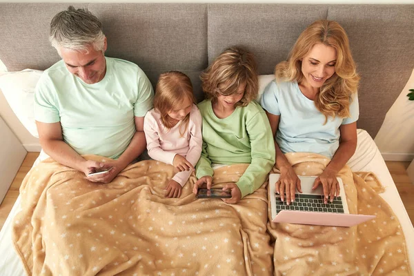
<path id="1" fill-rule="evenodd" d="M 135 135 L 135 116 L 152 108 L 154 92 L 135 63 L 106 57 L 106 74 L 87 84 L 63 60 L 43 72 L 34 92 L 34 117 L 60 121 L 63 141 L 80 155 L 117 159 Z"/>

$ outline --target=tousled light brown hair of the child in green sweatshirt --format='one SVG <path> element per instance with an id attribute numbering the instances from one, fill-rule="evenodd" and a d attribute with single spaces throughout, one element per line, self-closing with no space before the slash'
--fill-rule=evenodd
<path id="1" fill-rule="evenodd" d="M 242 48 L 228 48 L 201 73 L 201 81 L 206 97 L 213 101 L 219 95 L 233 95 L 240 85 L 246 83 L 244 95 L 235 106 L 247 106 L 257 97 L 259 90 L 255 56 Z"/>

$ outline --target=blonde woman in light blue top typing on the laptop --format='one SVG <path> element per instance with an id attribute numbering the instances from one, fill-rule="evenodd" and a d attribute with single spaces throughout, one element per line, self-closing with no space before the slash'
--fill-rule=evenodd
<path id="1" fill-rule="evenodd" d="M 275 137 L 276 184 L 282 201 L 295 200 L 300 180 L 286 152 L 316 152 L 331 159 L 313 188 L 322 184 L 325 203 L 339 195 L 337 172 L 357 146 L 359 76 L 346 32 L 335 21 L 319 20 L 297 39 L 287 61 L 277 64 L 275 81 L 262 97 L 262 107 Z"/>

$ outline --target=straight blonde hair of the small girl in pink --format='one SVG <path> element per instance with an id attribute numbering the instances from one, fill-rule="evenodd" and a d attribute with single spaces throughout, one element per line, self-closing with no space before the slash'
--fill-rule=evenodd
<path id="1" fill-rule="evenodd" d="M 162 124 L 170 130 L 174 125 L 170 121 L 168 112 L 174 110 L 185 99 L 190 99 L 195 103 L 193 85 L 186 74 L 178 71 L 169 71 L 159 75 L 157 86 L 155 87 L 154 108 L 161 114 Z M 179 133 L 182 136 L 188 128 L 190 113 L 181 121 Z"/>

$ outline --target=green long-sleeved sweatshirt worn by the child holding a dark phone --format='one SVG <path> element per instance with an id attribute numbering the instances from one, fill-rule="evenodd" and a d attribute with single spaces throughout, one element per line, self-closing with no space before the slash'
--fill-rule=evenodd
<path id="1" fill-rule="evenodd" d="M 253 193 L 275 164 L 275 143 L 266 113 L 256 101 L 237 107 L 219 119 L 210 100 L 198 104 L 203 117 L 203 148 L 196 166 L 197 178 L 213 176 L 211 164 L 250 164 L 236 182 L 242 197 Z"/>

